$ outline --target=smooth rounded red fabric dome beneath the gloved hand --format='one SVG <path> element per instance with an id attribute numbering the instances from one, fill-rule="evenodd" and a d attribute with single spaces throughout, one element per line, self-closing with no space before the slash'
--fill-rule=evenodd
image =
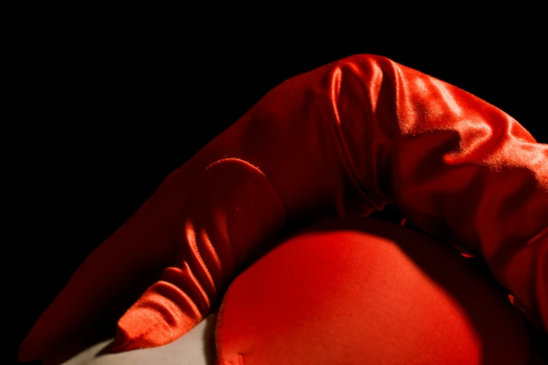
<path id="1" fill-rule="evenodd" d="M 524 324 L 456 250 L 370 218 L 289 238 L 230 285 L 218 364 L 527 364 Z"/>

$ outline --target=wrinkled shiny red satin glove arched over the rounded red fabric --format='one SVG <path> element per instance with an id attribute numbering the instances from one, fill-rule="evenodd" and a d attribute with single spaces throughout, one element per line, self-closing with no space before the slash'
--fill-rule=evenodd
<path id="1" fill-rule="evenodd" d="M 357 55 L 274 88 L 171 173 L 74 273 L 20 359 L 62 345 L 158 266 L 164 275 L 120 319 L 115 343 L 169 343 L 283 227 L 366 216 L 387 203 L 412 226 L 483 257 L 546 331 L 548 145 L 467 92 Z"/>

